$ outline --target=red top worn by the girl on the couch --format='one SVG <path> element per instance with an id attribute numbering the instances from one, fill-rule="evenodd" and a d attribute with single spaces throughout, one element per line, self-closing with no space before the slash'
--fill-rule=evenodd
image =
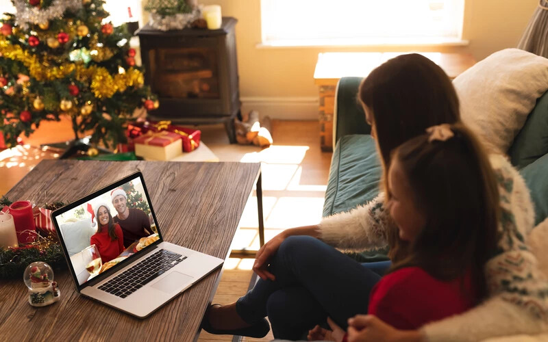
<path id="1" fill-rule="evenodd" d="M 463 293 L 461 279 L 441 281 L 419 267 L 398 269 L 373 287 L 368 313 L 404 330 L 462 313 L 474 306 L 474 297 Z M 473 293 L 469 276 L 464 289 Z"/>

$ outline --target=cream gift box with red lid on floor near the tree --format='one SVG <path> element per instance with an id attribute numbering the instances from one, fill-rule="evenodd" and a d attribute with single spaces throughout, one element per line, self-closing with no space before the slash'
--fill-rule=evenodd
<path id="1" fill-rule="evenodd" d="M 152 160 L 173 159 L 183 150 L 181 135 L 169 131 L 149 131 L 134 142 L 135 155 Z"/>

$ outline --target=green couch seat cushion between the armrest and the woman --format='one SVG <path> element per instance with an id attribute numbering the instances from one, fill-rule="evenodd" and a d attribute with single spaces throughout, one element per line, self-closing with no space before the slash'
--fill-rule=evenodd
<path id="1" fill-rule="evenodd" d="M 349 211 L 379 194 L 382 168 L 371 135 L 345 135 L 333 153 L 323 216 Z M 388 250 L 351 253 L 360 262 L 385 261 Z"/>

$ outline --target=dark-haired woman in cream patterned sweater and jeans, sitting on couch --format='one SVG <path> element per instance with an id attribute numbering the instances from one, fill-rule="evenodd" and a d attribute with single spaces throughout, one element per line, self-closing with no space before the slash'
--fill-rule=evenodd
<path id="1" fill-rule="evenodd" d="M 427 127 L 453 124 L 460 120 L 458 98 L 447 75 L 421 55 L 402 55 L 379 66 L 364 79 L 358 97 L 377 142 L 384 182 L 390 168 L 390 153 L 395 147 L 423 134 Z M 533 211 L 527 188 L 521 176 L 503 156 L 490 155 L 489 159 L 501 198 L 497 230 L 502 238 L 497 244 L 496 253 L 486 263 L 488 300 L 469 312 L 427 324 L 421 330 L 391 330 L 397 332 L 398 338 L 405 337 L 408 341 L 477 341 L 507 334 L 540 332 L 546 328 L 548 303 L 545 293 L 548 287 L 540 279 L 536 260 L 523 239 L 533 226 Z M 314 320 L 325 319 L 326 314 L 332 316 L 338 326 L 347 328 L 347 318 L 365 313 L 369 297 L 361 302 L 356 301 L 355 296 L 349 295 L 350 292 L 355 293 L 356 289 L 329 293 L 323 289 L 336 289 L 338 279 L 329 281 L 329 277 L 321 278 L 325 272 L 333 272 L 333 269 L 344 271 L 341 277 L 348 272 L 362 270 L 357 266 L 351 270 L 341 270 L 339 260 L 330 254 L 332 252 L 329 248 L 303 237 L 297 237 L 301 241 L 295 241 L 296 237 L 292 235 L 309 235 L 345 250 L 361 251 L 388 245 L 390 258 L 397 260 L 400 253 L 405 252 L 406 246 L 397 240 L 397 230 L 385 208 L 384 197 L 384 193 L 381 193 L 366 205 L 348 213 L 332 215 L 317 226 L 284 231 L 260 249 L 253 270 L 262 282 L 275 282 L 273 280 L 279 269 L 269 268 L 269 261 L 273 257 L 283 258 L 289 265 L 295 265 L 292 273 L 295 275 L 301 272 L 304 276 L 299 280 L 301 283 L 306 282 L 306 290 L 295 287 L 275 293 L 277 299 L 273 298 L 271 307 L 266 310 L 273 329 L 288 326 L 296 331 L 310 326 Z M 288 241 L 295 248 L 282 245 L 288 237 L 292 237 Z M 278 251 L 281 245 L 284 248 Z M 515 261 L 519 265 L 516 266 Z M 308 283 L 309 278 L 316 281 Z M 318 280 L 322 283 L 315 286 L 314 282 Z M 378 278 L 362 277 L 361 281 L 362 291 L 369 293 Z M 259 282 L 258 285 L 264 284 Z M 253 291 L 250 293 L 253 295 Z M 249 293 L 246 297 L 250 297 Z M 292 303 L 289 313 L 287 308 L 277 307 L 277 304 L 287 302 Z M 341 302 L 345 304 L 344 310 L 340 309 Z M 246 298 L 240 298 L 236 303 L 212 306 L 206 319 L 212 328 L 218 330 L 259 330 L 260 323 L 251 318 L 258 317 L 262 312 L 245 317 L 242 308 L 246 305 Z M 456 336 L 456 332 L 461 333 Z"/>

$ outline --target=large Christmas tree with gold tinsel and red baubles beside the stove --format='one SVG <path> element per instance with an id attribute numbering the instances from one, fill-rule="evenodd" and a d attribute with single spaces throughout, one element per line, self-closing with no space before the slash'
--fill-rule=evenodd
<path id="1" fill-rule="evenodd" d="M 12 0 L 0 22 L 0 129 L 6 145 L 42 120 L 68 114 L 78 133 L 114 147 L 138 107 L 158 101 L 143 86 L 125 25 L 103 23 L 101 0 Z"/>

